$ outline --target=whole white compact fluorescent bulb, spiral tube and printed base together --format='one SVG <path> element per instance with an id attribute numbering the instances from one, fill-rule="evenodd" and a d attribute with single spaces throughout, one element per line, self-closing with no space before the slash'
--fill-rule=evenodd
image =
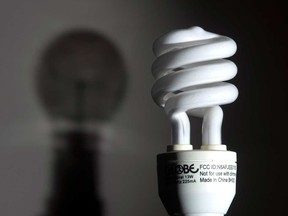
<path id="1" fill-rule="evenodd" d="M 157 156 L 158 190 L 169 215 L 222 216 L 236 192 L 236 153 L 221 142 L 223 111 L 237 88 L 223 82 L 237 73 L 224 58 L 236 43 L 200 27 L 169 32 L 155 40 L 154 101 L 172 125 L 172 144 Z M 202 146 L 190 144 L 188 115 L 203 118 Z"/>

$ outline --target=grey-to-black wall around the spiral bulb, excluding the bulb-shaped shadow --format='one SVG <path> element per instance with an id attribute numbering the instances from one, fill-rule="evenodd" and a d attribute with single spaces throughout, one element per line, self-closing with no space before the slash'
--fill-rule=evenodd
<path id="1" fill-rule="evenodd" d="M 281 1 L 200 0 L 0 2 L 0 214 L 45 211 L 55 123 L 40 106 L 34 78 L 51 41 L 80 28 L 113 42 L 129 80 L 113 120 L 89 122 L 108 140 L 100 146 L 98 173 L 105 215 L 167 215 L 157 195 L 156 154 L 165 151 L 170 129 L 150 96 L 152 43 L 194 25 L 238 45 L 231 58 L 238 74 L 229 82 L 239 97 L 223 106 L 223 143 L 238 154 L 237 194 L 227 215 L 285 214 L 286 7 Z M 192 130 L 200 131 L 199 122 Z"/>

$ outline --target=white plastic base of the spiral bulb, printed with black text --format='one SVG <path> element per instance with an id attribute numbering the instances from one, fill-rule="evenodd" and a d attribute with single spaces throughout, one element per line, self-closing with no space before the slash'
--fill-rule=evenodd
<path id="1" fill-rule="evenodd" d="M 227 213 L 236 193 L 236 153 L 226 151 L 225 145 L 211 149 L 203 146 L 201 150 L 175 151 L 172 148 L 157 156 L 159 195 L 169 215 Z"/>

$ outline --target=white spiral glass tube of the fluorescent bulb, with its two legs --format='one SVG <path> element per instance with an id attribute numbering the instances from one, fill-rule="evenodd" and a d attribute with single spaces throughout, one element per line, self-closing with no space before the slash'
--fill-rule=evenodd
<path id="1" fill-rule="evenodd" d="M 232 103 L 238 96 L 234 85 L 223 82 L 236 75 L 237 67 L 223 58 L 236 49 L 232 39 L 197 26 L 155 40 L 152 97 L 170 118 L 172 144 L 190 144 L 187 115 L 203 118 L 202 144 L 221 144 L 219 105 Z"/>

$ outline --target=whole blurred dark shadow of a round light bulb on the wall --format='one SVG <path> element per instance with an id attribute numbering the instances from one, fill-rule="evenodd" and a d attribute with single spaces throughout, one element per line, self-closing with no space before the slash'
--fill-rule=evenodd
<path id="1" fill-rule="evenodd" d="M 94 31 L 66 32 L 44 50 L 35 82 L 55 127 L 52 185 L 43 215 L 104 215 L 101 134 L 91 125 L 109 121 L 125 95 L 127 75 L 119 51 Z"/>

